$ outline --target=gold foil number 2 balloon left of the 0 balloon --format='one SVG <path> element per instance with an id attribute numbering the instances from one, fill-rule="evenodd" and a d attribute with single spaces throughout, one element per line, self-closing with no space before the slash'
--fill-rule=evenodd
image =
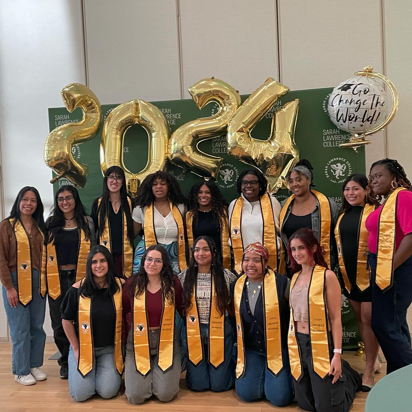
<path id="1" fill-rule="evenodd" d="M 80 122 L 56 127 L 47 136 L 44 143 L 44 163 L 57 173 L 50 183 L 64 177 L 77 187 L 84 187 L 89 166 L 73 158 L 72 145 L 84 143 L 96 136 L 102 119 L 101 105 L 95 94 L 80 83 L 68 84 L 62 89 L 61 98 L 69 112 L 81 107 L 84 116 Z"/>

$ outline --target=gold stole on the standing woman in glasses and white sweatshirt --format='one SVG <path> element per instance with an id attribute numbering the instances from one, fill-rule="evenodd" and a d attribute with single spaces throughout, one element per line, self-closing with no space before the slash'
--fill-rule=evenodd
<path id="1" fill-rule="evenodd" d="M 273 269 L 277 269 L 277 242 L 276 242 L 276 226 L 273 217 L 272 202 L 270 194 L 263 194 L 260 199 L 260 210 L 263 220 L 263 246 L 269 251 L 268 265 Z M 242 256 L 243 249 L 248 245 L 243 245 L 242 240 L 242 206 L 243 197 L 236 199 L 233 206 L 232 216 L 230 217 L 230 239 L 232 241 L 232 250 L 234 256 L 234 269 L 238 274 L 242 272 Z M 243 247 L 244 246 L 244 247 Z"/>

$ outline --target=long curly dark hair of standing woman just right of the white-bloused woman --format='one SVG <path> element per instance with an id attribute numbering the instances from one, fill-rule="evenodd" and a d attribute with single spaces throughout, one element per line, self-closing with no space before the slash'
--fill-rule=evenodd
<path id="1" fill-rule="evenodd" d="M 187 196 L 187 211 L 193 214 L 193 224 L 195 225 L 197 223 L 199 216 L 199 203 L 197 201 L 197 195 L 203 185 L 206 185 L 210 190 L 212 213 L 215 222 L 220 223 L 222 227 L 227 227 L 227 208 L 229 204 L 212 180 L 205 180 L 204 182 L 192 186 L 190 189 L 189 195 Z"/>

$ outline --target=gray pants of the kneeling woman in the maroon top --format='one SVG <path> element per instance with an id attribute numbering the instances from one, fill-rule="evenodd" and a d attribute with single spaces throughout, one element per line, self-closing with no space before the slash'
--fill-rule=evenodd
<path id="1" fill-rule="evenodd" d="M 150 371 L 146 376 L 136 372 L 133 348 L 133 328 L 127 337 L 126 361 L 124 365 L 124 384 L 126 397 L 131 403 L 143 403 L 150 396 L 155 395 L 162 402 L 169 402 L 179 391 L 180 381 L 180 339 L 175 325 L 173 340 L 173 366 L 163 372 L 157 365 L 157 345 L 160 330 L 149 330 Z"/>

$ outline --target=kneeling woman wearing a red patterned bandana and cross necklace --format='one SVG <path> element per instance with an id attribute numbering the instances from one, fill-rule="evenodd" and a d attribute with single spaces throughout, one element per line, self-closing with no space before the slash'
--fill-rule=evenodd
<path id="1" fill-rule="evenodd" d="M 245 248 L 242 272 L 230 289 L 236 316 L 236 393 L 245 402 L 293 400 L 288 356 L 289 280 L 268 267 L 261 243 Z"/>

